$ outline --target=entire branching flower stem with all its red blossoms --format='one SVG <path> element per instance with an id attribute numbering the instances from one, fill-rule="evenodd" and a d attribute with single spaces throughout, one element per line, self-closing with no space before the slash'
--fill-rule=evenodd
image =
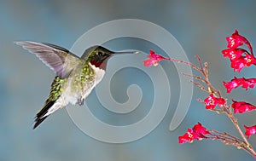
<path id="1" fill-rule="evenodd" d="M 224 57 L 230 58 L 230 66 L 234 69 L 235 72 L 241 72 L 241 69 L 243 69 L 244 67 L 256 65 L 256 58 L 253 56 L 253 47 L 246 37 L 241 36 L 236 30 L 236 32 L 234 32 L 230 37 L 226 37 L 226 40 L 228 49 L 222 50 L 222 54 L 224 55 Z M 241 49 L 242 45 L 246 45 L 249 51 L 247 51 L 246 49 Z M 148 55 L 148 59 L 144 60 L 144 66 L 157 66 L 160 60 L 170 60 L 191 66 L 193 69 L 199 72 L 201 76 L 186 74 L 184 75 L 200 81 L 200 83 L 194 81 L 191 82 L 203 91 L 209 93 L 207 98 L 201 102 L 206 105 L 206 109 L 213 112 L 224 113 L 228 118 L 230 118 L 238 133 L 241 135 L 241 139 L 237 138 L 234 135 L 230 135 L 227 132 L 219 132 L 214 129 L 206 129 L 201 125 L 201 123 L 198 123 L 195 124 L 192 129 L 188 129 L 188 131 L 184 135 L 179 136 L 178 142 L 182 144 L 185 142 L 191 143 L 194 140 L 201 141 L 202 139 L 210 139 L 212 141 L 219 140 L 224 142 L 226 145 L 233 145 L 237 148 L 242 148 L 246 152 L 251 154 L 254 158 L 256 158 L 256 152 L 250 145 L 249 141 L 247 141 L 247 139 L 249 139 L 251 135 L 256 135 L 256 125 L 244 125 L 246 131 L 245 133 L 243 133 L 240 125 L 238 124 L 238 119 L 235 117 L 236 113 L 241 114 L 244 112 L 251 112 L 256 110 L 256 106 L 253 106 L 246 101 L 234 100 L 232 100 L 232 102 L 229 104 L 228 99 L 224 99 L 220 91 L 215 89 L 210 83 L 207 63 L 202 64 L 200 58 L 198 56 L 196 58 L 200 66 L 195 66 L 194 64 L 183 60 L 165 58 L 161 55 L 156 55 L 153 50 L 150 50 L 150 55 Z M 230 82 L 224 82 L 223 84 L 225 89 L 227 89 L 227 93 L 230 93 L 231 90 L 236 89 L 240 86 L 241 88 L 246 90 L 248 88 L 253 89 L 256 85 L 256 78 L 235 77 Z M 216 106 L 218 106 L 218 108 Z"/>

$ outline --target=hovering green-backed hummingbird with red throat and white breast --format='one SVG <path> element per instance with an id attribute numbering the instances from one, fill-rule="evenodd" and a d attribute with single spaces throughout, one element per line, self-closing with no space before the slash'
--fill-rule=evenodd
<path id="1" fill-rule="evenodd" d="M 84 54 L 79 57 L 55 44 L 30 41 L 15 43 L 36 55 L 56 74 L 51 83 L 49 97 L 35 117 L 33 129 L 36 129 L 51 113 L 69 103 L 82 106 L 92 89 L 102 81 L 111 56 L 138 53 L 137 51 L 113 52 L 95 45 L 85 49 Z"/>

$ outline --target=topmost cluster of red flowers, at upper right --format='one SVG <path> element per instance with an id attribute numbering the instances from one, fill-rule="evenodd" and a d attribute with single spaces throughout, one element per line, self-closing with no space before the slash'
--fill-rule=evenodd
<path id="1" fill-rule="evenodd" d="M 246 37 L 242 37 L 236 30 L 230 37 L 226 37 L 226 40 L 228 49 L 222 50 L 222 54 L 224 57 L 230 58 L 230 66 L 235 71 L 241 72 L 242 68 L 256 64 L 256 58 L 253 56 L 253 47 Z M 246 49 L 238 48 L 243 44 L 247 45 L 250 52 L 247 52 Z"/>

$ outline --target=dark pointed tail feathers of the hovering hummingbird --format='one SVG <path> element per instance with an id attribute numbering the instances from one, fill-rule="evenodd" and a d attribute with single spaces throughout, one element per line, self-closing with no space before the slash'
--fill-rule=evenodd
<path id="1" fill-rule="evenodd" d="M 35 117 L 35 124 L 33 126 L 33 129 L 36 129 L 38 127 L 39 124 L 41 124 L 45 118 L 47 118 L 48 116 L 45 116 L 45 114 L 49 111 L 49 108 L 51 106 L 53 106 L 55 103 L 55 101 L 46 101 L 44 107 L 42 108 L 42 110 L 40 110 L 37 113 L 37 116 Z"/>

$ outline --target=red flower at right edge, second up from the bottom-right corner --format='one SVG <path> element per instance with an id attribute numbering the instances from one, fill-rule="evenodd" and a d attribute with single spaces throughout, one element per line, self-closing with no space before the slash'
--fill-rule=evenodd
<path id="1" fill-rule="evenodd" d="M 235 113 L 250 112 L 256 109 L 256 106 L 253 106 L 245 101 L 233 101 L 231 106 L 234 108 Z"/>

